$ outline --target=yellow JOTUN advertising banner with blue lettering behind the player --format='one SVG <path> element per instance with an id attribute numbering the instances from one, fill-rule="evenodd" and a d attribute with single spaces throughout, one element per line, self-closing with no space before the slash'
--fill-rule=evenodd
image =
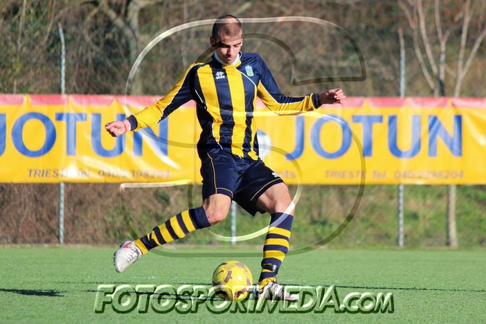
<path id="1" fill-rule="evenodd" d="M 0 181 L 200 182 L 193 102 L 113 138 L 149 96 L 0 95 Z M 348 98 L 300 116 L 259 102 L 260 156 L 287 183 L 486 183 L 485 98 Z"/>

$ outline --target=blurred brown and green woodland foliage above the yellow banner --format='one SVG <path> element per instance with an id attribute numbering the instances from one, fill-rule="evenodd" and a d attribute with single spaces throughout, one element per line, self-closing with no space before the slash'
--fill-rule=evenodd
<path id="1" fill-rule="evenodd" d="M 298 80 L 361 75 L 356 51 L 343 30 L 354 39 L 366 63 L 366 80 L 298 87 L 290 82 L 292 64 L 280 46 L 260 37 L 245 39 L 243 50 L 260 53 L 282 91 L 290 95 L 339 86 L 348 96 L 398 96 L 399 29 L 406 48 L 406 96 L 438 94 L 424 69 L 440 79 L 442 47 L 444 94 L 485 94 L 486 46 L 479 43 L 474 51 L 485 36 L 483 0 L 3 0 L 0 92 L 60 92 L 58 24 L 66 38 L 66 93 L 120 94 L 125 93 L 134 60 L 154 37 L 225 13 L 244 18 L 313 17 L 332 23 L 244 26 L 244 33 L 270 35 L 287 44 L 296 55 Z M 209 34 L 210 25 L 199 26 L 157 44 L 136 72 L 130 93 L 163 96 L 187 64 L 208 49 Z M 455 93 L 454 81 L 462 74 L 459 68 L 466 65 L 471 52 L 462 87 Z"/>

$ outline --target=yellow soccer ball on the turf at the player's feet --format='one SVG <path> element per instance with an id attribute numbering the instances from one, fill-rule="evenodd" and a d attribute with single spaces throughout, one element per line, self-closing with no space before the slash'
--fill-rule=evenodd
<path id="1" fill-rule="evenodd" d="M 219 264 L 213 273 L 217 296 L 226 300 L 243 300 L 253 286 L 251 271 L 243 262 L 231 260 Z"/>

